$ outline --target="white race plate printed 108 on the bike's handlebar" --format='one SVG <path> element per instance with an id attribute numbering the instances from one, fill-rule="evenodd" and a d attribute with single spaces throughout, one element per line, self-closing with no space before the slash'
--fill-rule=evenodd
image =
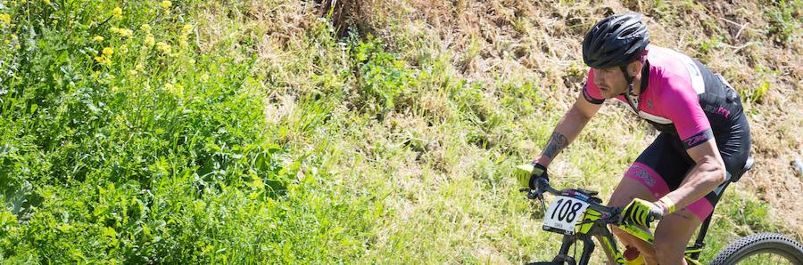
<path id="1" fill-rule="evenodd" d="M 574 234 L 574 224 L 582 218 L 589 203 L 572 197 L 558 196 L 544 215 L 544 230 L 564 235 Z"/>

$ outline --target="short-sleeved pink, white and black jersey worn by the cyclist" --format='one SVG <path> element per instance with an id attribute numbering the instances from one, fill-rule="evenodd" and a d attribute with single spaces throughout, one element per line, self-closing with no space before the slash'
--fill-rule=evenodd
<path id="1" fill-rule="evenodd" d="M 648 46 L 642 69 L 638 98 L 617 98 L 628 109 L 646 119 L 656 129 L 677 135 L 688 149 L 730 130 L 742 114 L 736 90 L 707 67 L 685 54 L 658 46 Z M 589 102 L 601 104 L 599 88 L 593 84 L 594 70 L 583 95 Z M 634 107 L 637 106 L 637 110 Z"/>

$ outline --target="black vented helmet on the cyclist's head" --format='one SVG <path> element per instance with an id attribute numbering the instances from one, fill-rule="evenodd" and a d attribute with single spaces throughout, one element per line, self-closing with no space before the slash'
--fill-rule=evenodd
<path id="1" fill-rule="evenodd" d="M 594 68 L 625 66 L 650 43 L 642 14 L 613 14 L 597 22 L 583 39 L 583 61 Z"/>

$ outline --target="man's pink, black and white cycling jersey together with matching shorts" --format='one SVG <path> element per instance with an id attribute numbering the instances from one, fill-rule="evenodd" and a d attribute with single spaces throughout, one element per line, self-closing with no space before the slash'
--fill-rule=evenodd
<path id="1" fill-rule="evenodd" d="M 647 50 L 641 93 L 617 98 L 661 134 L 624 177 L 642 183 L 658 199 L 680 187 L 695 166 L 687 150 L 710 139 L 715 139 L 729 175 L 744 172 L 740 170 L 750 153 L 750 126 L 736 90 L 719 74 L 684 54 L 658 46 L 648 46 Z M 588 102 L 601 104 L 604 100 L 593 78 L 592 69 L 582 93 Z M 720 195 L 721 190 L 711 191 L 684 209 L 700 220 L 706 219 Z"/>

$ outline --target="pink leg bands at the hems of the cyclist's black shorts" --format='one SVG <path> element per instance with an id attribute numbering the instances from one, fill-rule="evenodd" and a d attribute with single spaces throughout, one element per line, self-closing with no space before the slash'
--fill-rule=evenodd
<path id="1" fill-rule="evenodd" d="M 655 198 L 661 198 L 669 193 L 669 186 L 666 185 L 666 181 L 663 180 L 661 175 L 658 175 L 658 172 L 655 172 L 652 167 L 643 163 L 633 163 L 633 166 L 630 166 L 630 169 L 625 172 L 625 177 L 642 183 L 644 187 L 650 190 L 650 193 L 652 193 Z M 689 204 L 686 210 L 697 215 L 702 221 L 706 219 L 708 215 L 711 215 L 711 211 L 714 211 L 714 206 L 711 205 L 708 199 L 703 197 Z"/>

